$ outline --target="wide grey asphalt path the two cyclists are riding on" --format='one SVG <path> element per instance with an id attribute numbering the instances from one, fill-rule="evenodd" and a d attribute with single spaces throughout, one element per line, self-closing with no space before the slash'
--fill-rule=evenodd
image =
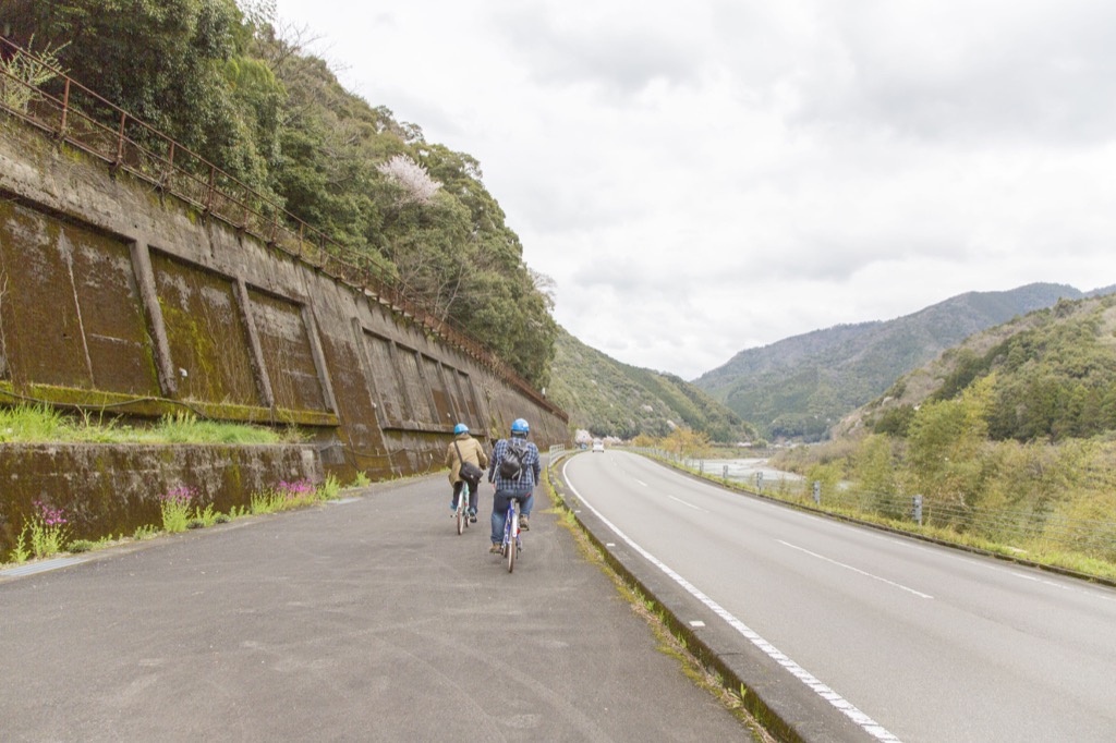
<path id="1" fill-rule="evenodd" d="M 0 577 L 0 740 L 751 740 L 546 502 L 512 575 L 448 506 L 434 475 Z"/>

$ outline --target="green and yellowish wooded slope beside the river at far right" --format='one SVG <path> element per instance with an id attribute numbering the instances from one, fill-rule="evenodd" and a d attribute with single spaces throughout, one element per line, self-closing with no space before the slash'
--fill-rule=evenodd
<path id="1" fill-rule="evenodd" d="M 978 537 L 998 539 L 1018 523 L 1065 534 L 1065 519 L 1083 534 L 1110 532 L 1116 296 L 1062 300 L 978 334 L 849 416 L 834 441 L 787 451 L 775 465 L 824 489 L 876 495 L 885 511 L 922 494 L 936 525 Z M 999 515 L 979 515 L 988 513 Z M 1088 554 L 1116 561 L 1110 547 Z"/>

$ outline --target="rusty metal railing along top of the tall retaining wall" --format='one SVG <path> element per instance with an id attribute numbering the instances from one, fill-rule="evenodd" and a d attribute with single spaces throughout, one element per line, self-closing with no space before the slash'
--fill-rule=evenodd
<path id="1" fill-rule="evenodd" d="M 538 405 L 568 422 L 567 414 L 475 340 L 452 318 L 439 317 L 377 257 L 358 253 L 307 224 L 213 163 L 100 97 L 46 60 L 0 36 L 0 56 L 25 55 L 49 69 L 55 79 L 30 85 L 0 66 L 0 83 L 26 90 L 16 108 L 0 98 L 0 109 L 58 141 L 126 171 L 160 191 L 181 199 L 208 216 L 262 240 L 314 266 L 331 278 L 366 290 L 391 311 L 485 365 Z"/>

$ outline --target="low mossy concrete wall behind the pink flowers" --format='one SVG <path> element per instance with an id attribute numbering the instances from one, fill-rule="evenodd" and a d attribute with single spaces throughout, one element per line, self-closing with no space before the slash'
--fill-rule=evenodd
<path id="1" fill-rule="evenodd" d="M 160 495 L 173 488 L 192 489 L 202 510 L 229 513 L 249 506 L 252 493 L 299 480 L 323 480 L 311 445 L 6 444 L 0 554 L 7 557 L 39 512 L 36 501 L 62 510 L 70 539 L 97 540 L 162 528 Z"/>

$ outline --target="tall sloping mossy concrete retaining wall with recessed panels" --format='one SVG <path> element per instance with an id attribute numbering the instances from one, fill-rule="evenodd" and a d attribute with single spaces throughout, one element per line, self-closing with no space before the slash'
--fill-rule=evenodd
<path id="1" fill-rule="evenodd" d="M 561 411 L 374 293 L 4 116 L 0 405 L 294 424 L 343 483 L 440 467 L 459 421 L 567 440 Z"/>

